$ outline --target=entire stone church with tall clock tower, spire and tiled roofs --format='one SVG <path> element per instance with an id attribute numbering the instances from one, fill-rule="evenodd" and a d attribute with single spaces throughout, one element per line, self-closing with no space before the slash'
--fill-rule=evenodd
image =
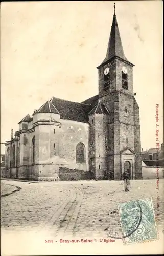
<path id="1" fill-rule="evenodd" d="M 142 179 L 133 66 L 124 54 L 114 6 L 106 57 L 97 67 L 99 94 L 81 103 L 52 97 L 22 118 L 5 144 L 5 176 L 55 180 L 66 169 L 121 180 L 126 169 L 131 179 Z"/>

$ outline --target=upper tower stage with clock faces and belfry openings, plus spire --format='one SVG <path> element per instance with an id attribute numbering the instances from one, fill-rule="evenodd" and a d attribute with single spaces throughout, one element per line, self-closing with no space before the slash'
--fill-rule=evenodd
<path id="1" fill-rule="evenodd" d="M 124 54 L 114 4 L 106 57 L 97 67 L 99 70 L 99 96 L 102 97 L 114 91 L 133 95 L 133 66 Z"/>

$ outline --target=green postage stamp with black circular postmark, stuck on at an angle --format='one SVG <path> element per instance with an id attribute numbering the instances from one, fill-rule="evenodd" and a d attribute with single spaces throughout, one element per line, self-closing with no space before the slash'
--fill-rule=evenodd
<path id="1" fill-rule="evenodd" d="M 157 228 L 151 198 L 119 203 L 124 243 L 157 239 Z"/>

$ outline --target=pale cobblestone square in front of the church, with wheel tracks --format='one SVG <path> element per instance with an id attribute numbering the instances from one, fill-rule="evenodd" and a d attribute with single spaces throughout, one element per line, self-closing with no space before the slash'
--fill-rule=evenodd
<path id="1" fill-rule="evenodd" d="M 62 237 L 105 237 L 108 228 L 120 230 L 117 203 L 151 196 L 158 228 L 163 230 L 163 181 L 160 180 L 157 190 L 156 180 L 133 180 L 129 193 L 125 193 L 123 181 L 30 183 L 3 180 L 2 194 L 11 189 L 9 184 L 22 189 L 1 198 L 1 229 L 48 231 L 53 238 L 61 234 Z"/>

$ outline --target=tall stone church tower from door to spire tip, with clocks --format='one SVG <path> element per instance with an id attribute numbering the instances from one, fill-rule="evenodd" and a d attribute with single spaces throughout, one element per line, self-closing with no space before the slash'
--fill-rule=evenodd
<path id="1" fill-rule="evenodd" d="M 133 64 L 125 57 L 114 15 L 99 72 L 99 99 L 109 110 L 107 169 L 120 180 L 129 166 L 132 179 L 142 179 L 139 107 L 133 96 Z"/>

